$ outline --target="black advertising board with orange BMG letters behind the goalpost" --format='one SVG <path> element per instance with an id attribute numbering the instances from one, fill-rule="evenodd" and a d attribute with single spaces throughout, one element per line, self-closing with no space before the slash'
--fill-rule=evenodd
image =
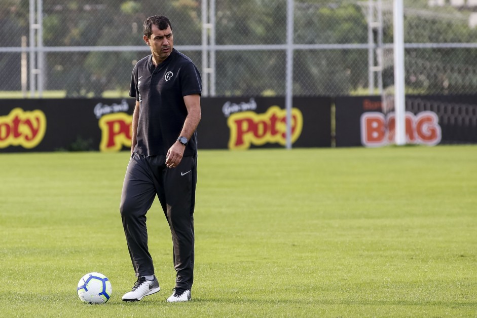
<path id="1" fill-rule="evenodd" d="M 406 96 L 406 143 L 477 143 L 476 96 Z M 394 141 L 394 112 L 380 96 L 337 97 L 336 146 L 378 147 Z"/>

